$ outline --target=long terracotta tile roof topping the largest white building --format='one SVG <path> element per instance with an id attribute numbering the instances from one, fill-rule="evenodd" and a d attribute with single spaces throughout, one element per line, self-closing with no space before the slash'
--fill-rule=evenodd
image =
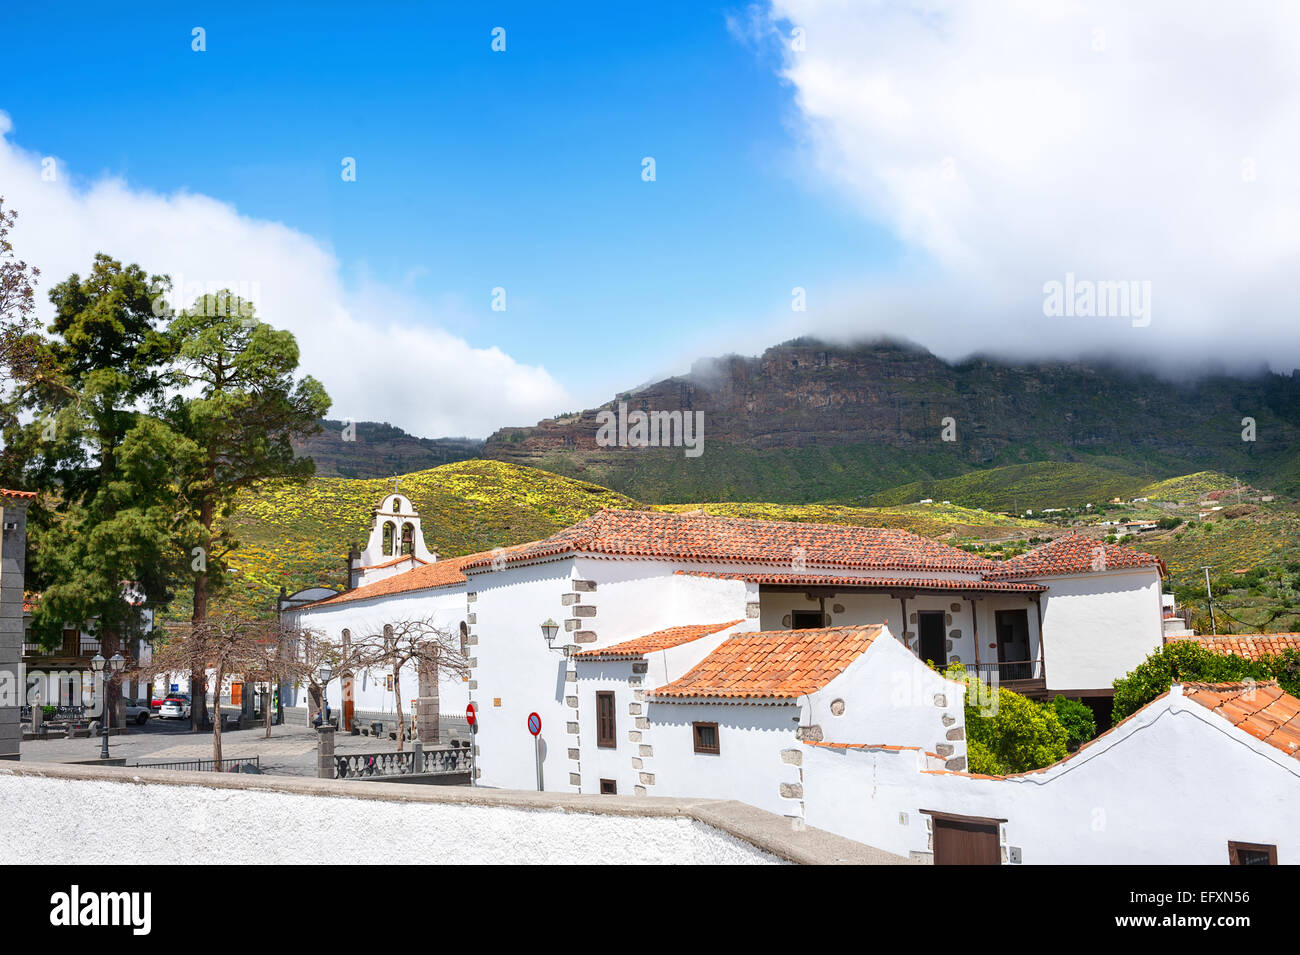
<path id="1" fill-rule="evenodd" d="M 737 561 L 790 567 L 879 570 L 965 570 L 997 568 L 991 560 L 896 528 L 797 524 L 714 517 L 659 511 L 601 511 L 545 541 L 520 547 L 507 560 L 529 560 L 569 552 L 624 557 Z M 486 567 L 488 559 L 467 569 Z"/>

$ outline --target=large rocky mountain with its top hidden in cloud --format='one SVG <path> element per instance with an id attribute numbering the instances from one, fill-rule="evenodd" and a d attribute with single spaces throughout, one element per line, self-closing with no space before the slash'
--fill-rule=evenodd
<path id="1" fill-rule="evenodd" d="M 634 411 L 690 412 L 702 453 L 604 446 L 601 413 L 620 404 L 625 421 Z M 1145 479 L 1214 469 L 1294 494 L 1297 451 L 1300 373 L 1173 381 L 1106 361 L 950 364 L 900 342 L 796 339 L 758 357 L 699 361 L 601 408 L 502 429 L 482 455 L 659 503 L 864 500 L 1037 461 Z"/>

